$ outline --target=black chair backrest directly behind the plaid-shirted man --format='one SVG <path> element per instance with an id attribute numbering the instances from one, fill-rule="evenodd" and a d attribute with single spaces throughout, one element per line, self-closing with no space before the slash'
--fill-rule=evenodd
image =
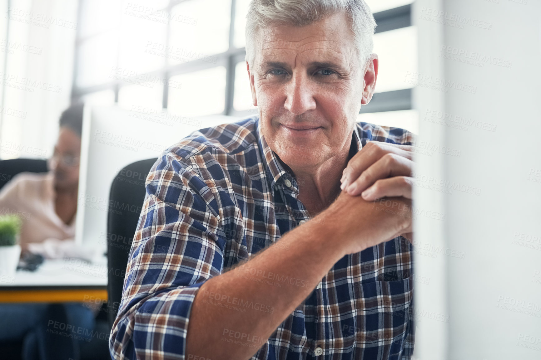
<path id="1" fill-rule="evenodd" d="M 144 181 L 157 158 L 124 167 L 113 180 L 107 218 L 108 318 L 113 326 L 122 299 L 128 254 L 135 235 L 146 189 Z"/>

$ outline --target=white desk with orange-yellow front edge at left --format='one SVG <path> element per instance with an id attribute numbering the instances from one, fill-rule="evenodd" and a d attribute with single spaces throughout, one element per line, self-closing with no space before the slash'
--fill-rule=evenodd
<path id="1" fill-rule="evenodd" d="M 0 303 L 106 302 L 107 257 L 92 262 L 65 258 L 45 260 L 32 271 L 0 278 Z"/>

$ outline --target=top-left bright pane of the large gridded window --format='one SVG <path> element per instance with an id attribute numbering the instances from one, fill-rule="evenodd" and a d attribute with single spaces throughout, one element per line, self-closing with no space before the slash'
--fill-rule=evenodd
<path id="1" fill-rule="evenodd" d="M 120 0 L 80 1 L 80 37 L 85 38 L 98 32 L 112 30 L 118 26 L 121 11 Z"/>

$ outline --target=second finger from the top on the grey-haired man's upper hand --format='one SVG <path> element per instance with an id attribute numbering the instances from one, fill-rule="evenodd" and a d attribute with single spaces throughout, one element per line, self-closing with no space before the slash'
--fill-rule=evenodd
<path id="1" fill-rule="evenodd" d="M 403 156 L 389 152 L 377 162 L 368 167 L 345 191 L 352 196 L 359 195 L 379 179 L 393 176 L 411 176 L 413 161 Z"/>

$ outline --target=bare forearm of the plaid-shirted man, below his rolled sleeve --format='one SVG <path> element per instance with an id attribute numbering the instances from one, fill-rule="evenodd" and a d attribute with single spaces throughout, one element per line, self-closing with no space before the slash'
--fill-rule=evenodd
<path id="1" fill-rule="evenodd" d="M 203 284 L 189 317 L 186 359 L 248 359 L 255 354 L 345 255 L 329 241 L 333 235 L 329 226 L 308 222 Z"/>

